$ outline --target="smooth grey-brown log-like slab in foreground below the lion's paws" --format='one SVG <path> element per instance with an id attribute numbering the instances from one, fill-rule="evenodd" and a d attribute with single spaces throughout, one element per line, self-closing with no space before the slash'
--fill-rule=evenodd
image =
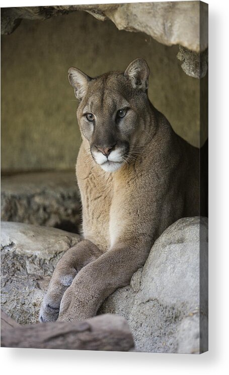
<path id="1" fill-rule="evenodd" d="M 22 326 L 1 310 L 1 347 L 133 351 L 134 342 L 126 320 L 115 314 Z"/>

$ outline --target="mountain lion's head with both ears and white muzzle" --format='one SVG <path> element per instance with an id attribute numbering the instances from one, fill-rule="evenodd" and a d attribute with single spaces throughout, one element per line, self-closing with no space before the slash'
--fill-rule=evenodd
<path id="1" fill-rule="evenodd" d="M 68 79 L 80 101 L 77 118 L 94 161 L 107 172 L 119 169 L 137 155 L 148 105 L 149 68 L 143 59 L 124 73 L 90 78 L 77 68 Z"/>

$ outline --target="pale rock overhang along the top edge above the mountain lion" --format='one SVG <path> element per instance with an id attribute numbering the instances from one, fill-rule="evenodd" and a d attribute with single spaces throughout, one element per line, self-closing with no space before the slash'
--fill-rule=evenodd
<path id="1" fill-rule="evenodd" d="M 207 33 L 199 37 L 199 2 L 151 2 L 129 4 L 71 5 L 54 7 L 20 7 L 3 9 L 2 34 L 11 33 L 15 20 L 41 19 L 84 10 L 97 19 L 110 19 L 119 30 L 142 31 L 166 45 L 181 44 L 199 52 L 207 48 Z M 202 7 L 205 17 L 203 30 L 207 30 L 207 4 Z"/>

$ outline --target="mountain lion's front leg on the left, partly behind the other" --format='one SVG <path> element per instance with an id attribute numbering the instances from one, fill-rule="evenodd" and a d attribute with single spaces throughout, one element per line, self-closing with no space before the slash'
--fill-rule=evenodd
<path id="1" fill-rule="evenodd" d="M 40 321 L 58 318 L 60 301 L 75 275 L 88 263 L 94 261 L 102 251 L 91 241 L 83 240 L 67 250 L 57 263 L 40 309 Z"/>

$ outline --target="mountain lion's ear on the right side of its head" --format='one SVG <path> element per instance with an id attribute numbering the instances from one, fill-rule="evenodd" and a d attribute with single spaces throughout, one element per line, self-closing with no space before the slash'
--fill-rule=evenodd
<path id="1" fill-rule="evenodd" d="M 126 68 L 124 75 L 130 79 L 133 88 L 147 90 L 149 67 L 144 59 L 133 60 Z"/>

